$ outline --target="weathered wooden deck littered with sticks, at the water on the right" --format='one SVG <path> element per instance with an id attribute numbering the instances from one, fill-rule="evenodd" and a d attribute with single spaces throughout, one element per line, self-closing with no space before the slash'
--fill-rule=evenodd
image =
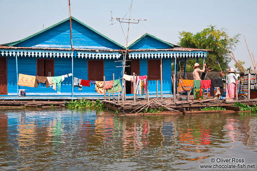
<path id="1" fill-rule="evenodd" d="M 240 102 L 249 106 L 257 104 L 257 99 L 239 99 L 234 101 L 226 102 L 225 99 L 217 99 L 213 97 L 205 97 L 204 100 L 193 100 L 190 97 L 189 101 L 176 101 L 174 103 L 173 98 L 150 98 L 149 102 L 146 99 L 137 99 L 134 104 L 133 99 L 127 99 L 122 105 L 120 101 L 113 100 L 102 100 L 104 107 L 111 110 L 117 110 L 120 113 L 139 113 L 145 109 L 156 109 L 159 107 L 166 108 L 170 112 L 174 113 L 193 113 L 193 111 L 203 109 L 205 107 L 223 107 L 226 110 L 240 111 L 240 108 L 233 107 L 236 102 Z M 139 111 L 140 110 L 140 111 Z"/>

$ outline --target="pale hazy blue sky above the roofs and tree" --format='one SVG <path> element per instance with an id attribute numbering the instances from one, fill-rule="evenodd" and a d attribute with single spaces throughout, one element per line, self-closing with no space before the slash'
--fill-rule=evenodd
<path id="1" fill-rule="evenodd" d="M 71 14 L 119 44 L 126 40 L 115 17 L 128 17 L 131 0 L 70 0 Z M 240 33 L 234 53 L 237 60 L 252 66 L 243 35 L 257 62 L 257 0 L 133 0 L 132 18 L 147 19 L 131 24 L 128 41 L 143 33 L 177 44 L 179 31 L 196 33 L 209 25 Z M 23 39 L 67 18 L 68 0 L 0 0 L 0 44 Z M 127 34 L 128 24 L 122 24 Z M 230 66 L 234 62 L 229 63 Z M 233 66 L 234 67 L 234 66 Z"/>

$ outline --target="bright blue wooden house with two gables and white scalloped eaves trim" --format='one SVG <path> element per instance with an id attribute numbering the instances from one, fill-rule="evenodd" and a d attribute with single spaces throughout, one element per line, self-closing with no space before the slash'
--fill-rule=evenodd
<path id="1" fill-rule="evenodd" d="M 95 86 L 73 88 L 72 77 L 61 85 L 61 93 L 40 84 L 37 88 L 17 85 L 18 74 L 33 76 L 61 76 L 73 73 L 85 80 L 122 78 L 120 61 L 125 47 L 72 17 L 73 48 L 70 43 L 69 18 L 22 40 L 0 45 L 0 94 L 16 96 L 25 89 L 27 96 L 98 96 Z M 171 94 L 171 64 L 187 58 L 205 58 L 207 50 L 175 46 L 150 34 L 144 34 L 128 46 L 130 67 L 126 73 L 148 75 L 149 93 L 156 92 L 163 61 L 163 93 Z M 160 85 L 160 84 L 159 84 Z M 127 93 L 133 93 L 129 86 Z"/>

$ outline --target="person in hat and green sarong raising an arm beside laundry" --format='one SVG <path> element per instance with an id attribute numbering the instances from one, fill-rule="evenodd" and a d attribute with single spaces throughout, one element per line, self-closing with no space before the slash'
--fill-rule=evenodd
<path id="1" fill-rule="evenodd" d="M 205 63 L 204 68 L 201 70 L 199 63 L 194 63 L 193 65 L 193 97 L 195 100 L 203 99 L 203 92 L 201 89 L 201 78 L 200 73 L 205 71 Z"/>

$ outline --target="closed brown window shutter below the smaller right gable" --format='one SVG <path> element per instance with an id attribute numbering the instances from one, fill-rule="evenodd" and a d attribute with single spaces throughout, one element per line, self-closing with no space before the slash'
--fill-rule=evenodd
<path id="1" fill-rule="evenodd" d="M 161 79 L 161 60 L 147 61 L 147 79 L 148 80 Z"/>

